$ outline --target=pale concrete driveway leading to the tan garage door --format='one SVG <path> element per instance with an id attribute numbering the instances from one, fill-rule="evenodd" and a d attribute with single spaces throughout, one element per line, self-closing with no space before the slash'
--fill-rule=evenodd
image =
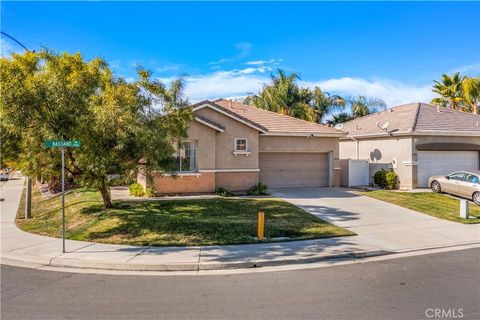
<path id="1" fill-rule="evenodd" d="M 437 219 L 344 188 L 275 189 L 272 194 L 388 250 L 480 243 L 480 225 Z"/>

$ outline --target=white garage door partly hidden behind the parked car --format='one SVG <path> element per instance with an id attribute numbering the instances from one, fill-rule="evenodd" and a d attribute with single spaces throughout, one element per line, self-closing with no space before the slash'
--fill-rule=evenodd
<path id="1" fill-rule="evenodd" d="M 458 170 L 478 170 L 477 151 L 419 151 L 418 186 L 428 187 L 431 176 L 447 175 Z"/>

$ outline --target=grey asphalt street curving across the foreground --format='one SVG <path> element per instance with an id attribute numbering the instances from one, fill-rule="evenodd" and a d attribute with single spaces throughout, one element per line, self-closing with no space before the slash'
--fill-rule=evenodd
<path id="1" fill-rule="evenodd" d="M 480 249 L 237 275 L 1 271 L 5 320 L 480 319 Z"/>

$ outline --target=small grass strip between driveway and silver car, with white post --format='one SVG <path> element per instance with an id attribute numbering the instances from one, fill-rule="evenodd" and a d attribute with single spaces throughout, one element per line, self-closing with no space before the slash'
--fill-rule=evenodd
<path id="1" fill-rule="evenodd" d="M 469 205 L 469 212 L 474 219 L 462 219 L 459 216 L 460 201 L 444 194 L 433 192 L 398 192 L 387 190 L 362 191 L 359 194 L 378 200 L 390 202 L 440 219 L 461 223 L 480 223 L 480 207 Z"/>

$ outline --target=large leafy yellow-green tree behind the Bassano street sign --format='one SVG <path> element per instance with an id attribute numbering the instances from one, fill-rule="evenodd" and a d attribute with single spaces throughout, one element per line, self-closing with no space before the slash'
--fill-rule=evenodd
<path id="1" fill-rule="evenodd" d="M 108 175 L 136 170 L 142 158 L 152 170 L 165 167 L 192 120 L 181 79 L 166 88 L 138 70 L 129 83 L 99 58 L 51 51 L 3 57 L 0 67 L 2 157 L 54 181 L 59 152 L 43 141 L 78 139 L 81 148 L 65 150 L 67 174 L 97 188 L 106 208 Z"/>

